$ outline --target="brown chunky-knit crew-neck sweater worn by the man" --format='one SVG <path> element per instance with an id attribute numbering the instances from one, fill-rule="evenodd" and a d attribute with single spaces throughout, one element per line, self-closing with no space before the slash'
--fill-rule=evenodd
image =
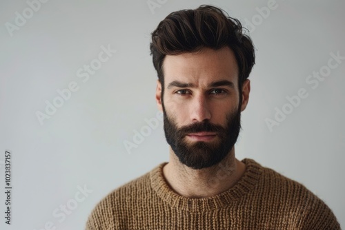
<path id="1" fill-rule="evenodd" d="M 254 160 L 237 184 L 210 198 L 170 189 L 163 163 L 112 191 L 95 207 L 86 229 L 340 229 L 325 203 L 306 187 Z"/>

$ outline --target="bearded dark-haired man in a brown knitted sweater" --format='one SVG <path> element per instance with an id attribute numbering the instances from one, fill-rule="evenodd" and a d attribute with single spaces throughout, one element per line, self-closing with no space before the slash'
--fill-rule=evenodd
<path id="1" fill-rule="evenodd" d="M 87 229 L 340 229 L 311 191 L 235 158 L 253 43 L 219 8 L 172 12 L 152 32 L 169 163 L 112 191 Z"/>

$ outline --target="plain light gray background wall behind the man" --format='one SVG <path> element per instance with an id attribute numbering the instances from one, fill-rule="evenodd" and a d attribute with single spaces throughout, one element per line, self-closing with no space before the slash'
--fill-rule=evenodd
<path id="1" fill-rule="evenodd" d="M 56 229 L 83 229 L 112 189 L 168 160 L 162 122 L 150 128 L 146 122 L 157 119 L 150 32 L 168 13 L 203 3 L 242 21 L 256 48 L 237 158 L 253 158 L 302 182 L 345 226 L 345 60 L 326 67 L 331 53 L 345 56 L 344 1 L 28 2 L 36 2 L 36 11 L 26 1 L 0 3 L 1 213 L 6 149 L 12 151 L 13 187 L 12 224 L 2 214 L 1 229 L 38 230 L 49 222 Z M 269 13 L 263 10 L 268 5 L 274 8 Z M 26 22 L 16 19 L 23 14 Z M 17 26 L 12 32 L 9 23 Z M 115 54 L 87 81 L 80 78 L 78 70 L 97 66 L 108 45 Z M 324 80 L 308 83 L 319 71 Z M 78 90 L 59 101 L 57 90 L 72 82 Z M 301 88 L 308 97 L 291 109 L 286 97 Z M 37 112 L 45 113 L 46 102 L 54 100 L 61 106 L 41 125 Z M 284 107 L 290 108 L 284 121 L 268 129 L 266 118 Z M 146 136 L 139 141 L 141 131 Z M 125 143 L 136 147 L 128 151 Z M 92 192 L 81 199 L 85 186 Z M 65 218 L 61 205 L 71 208 Z"/>

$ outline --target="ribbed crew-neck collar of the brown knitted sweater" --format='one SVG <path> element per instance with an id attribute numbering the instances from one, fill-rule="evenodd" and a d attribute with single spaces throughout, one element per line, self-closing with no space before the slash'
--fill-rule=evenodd
<path id="1" fill-rule="evenodd" d="M 150 171 L 151 186 L 157 192 L 157 195 L 171 207 L 191 212 L 219 209 L 245 196 L 255 187 L 262 174 L 262 167 L 255 160 L 246 158 L 242 162 L 246 165 L 246 171 L 242 178 L 239 179 L 234 187 L 217 196 L 209 198 L 186 198 L 176 194 L 175 191 L 170 189 L 163 176 L 163 167 L 167 163 L 162 163 Z"/>

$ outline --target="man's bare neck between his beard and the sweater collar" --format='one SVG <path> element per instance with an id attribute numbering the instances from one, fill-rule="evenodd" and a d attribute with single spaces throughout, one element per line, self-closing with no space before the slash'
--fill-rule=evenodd
<path id="1" fill-rule="evenodd" d="M 244 174 L 245 165 L 235 158 L 235 148 L 220 163 L 205 169 L 192 169 L 179 162 L 170 149 L 170 160 L 163 168 L 168 185 L 188 198 L 207 198 L 227 191 Z"/>

